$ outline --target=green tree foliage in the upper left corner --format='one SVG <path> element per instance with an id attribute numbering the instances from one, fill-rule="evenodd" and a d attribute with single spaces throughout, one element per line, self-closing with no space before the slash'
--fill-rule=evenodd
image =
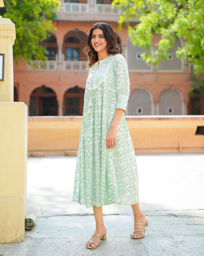
<path id="1" fill-rule="evenodd" d="M 4 0 L 4 5 L 1 15 L 3 18 L 10 18 L 16 27 L 14 59 L 23 56 L 27 63 L 30 63 L 33 57 L 45 60 L 45 49 L 39 42 L 54 32 L 52 20 L 57 17 L 56 9 L 60 8 L 60 1 Z"/>

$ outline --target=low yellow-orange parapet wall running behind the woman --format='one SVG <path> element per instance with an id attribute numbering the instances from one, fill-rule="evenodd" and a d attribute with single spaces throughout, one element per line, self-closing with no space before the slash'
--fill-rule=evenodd
<path id="1" fill-rule="evenodd" d="M 126 116 L 136 153 L 204 152 L 204 115 Z M 82 117 L 28 117 L 28 155 L 76 151 Z M 201 133 L 200 128 L 200 133 Z"/>

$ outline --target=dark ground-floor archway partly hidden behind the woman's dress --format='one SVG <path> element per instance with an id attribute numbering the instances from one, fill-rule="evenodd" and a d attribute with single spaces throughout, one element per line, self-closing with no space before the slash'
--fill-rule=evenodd
<path id="1" fill-rule="evenodd" d="M 83 115 L 85 90 L 75 86 L 64 94 L 63 115 Z"/>

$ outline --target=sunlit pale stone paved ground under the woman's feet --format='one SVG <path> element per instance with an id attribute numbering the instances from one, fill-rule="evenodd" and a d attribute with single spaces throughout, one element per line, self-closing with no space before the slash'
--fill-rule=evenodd
<path id="1" fill-rule="evenodd" d="M 72 202 L 76 157 L 28 158 L 27 213 L 37 215 L 20 243 L 0 256 L 204 255 L 204 154 L 137 155 L 140 205 L 149 226 L 131 239 L 130 206 L 103 207 L 107 239 L 85 247 L 95 230 L 91 208 Z"/>

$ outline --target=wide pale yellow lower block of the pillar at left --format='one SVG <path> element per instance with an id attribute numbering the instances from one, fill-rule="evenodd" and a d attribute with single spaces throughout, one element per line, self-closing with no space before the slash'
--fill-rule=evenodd
<path id="1" fill-rule="evenodd" d="M 0 243 L 24 239 L 27 106 L 0 102 Z"/>

